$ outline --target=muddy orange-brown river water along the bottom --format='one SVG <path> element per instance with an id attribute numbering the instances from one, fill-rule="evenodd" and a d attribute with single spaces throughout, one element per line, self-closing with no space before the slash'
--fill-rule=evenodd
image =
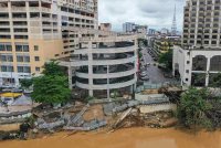
<path id="1" fill-rule="evenodd" d="M 27 141 L 2 141 L 0 148 L 221 148 L 221 131 L 191 135 L 173 128 L 129 128 L 112 134 L 55 134 Z"/>

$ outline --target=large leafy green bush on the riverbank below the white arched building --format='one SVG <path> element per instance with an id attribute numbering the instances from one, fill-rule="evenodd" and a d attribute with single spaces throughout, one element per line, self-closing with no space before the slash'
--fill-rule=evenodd
<path id="1" fill-rule="evenodd" d="M 211 127 L 212 123 L 207 116 L 207 112 L 212 108 L 209 97 L 210 93 L 207 88 L 197 89 L 191 87 L 183 93 L 177 109 L 180 124 L 194 129 Z"/>

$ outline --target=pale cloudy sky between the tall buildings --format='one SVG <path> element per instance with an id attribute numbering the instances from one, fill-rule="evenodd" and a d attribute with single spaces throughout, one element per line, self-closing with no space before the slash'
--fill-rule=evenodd
<path id="1" fill-rule="evenodd" d="M 186 0 L 98 0 L 99 23 L 110 22 L 115 31 L 122 31 L 124 22 L 147 24 L 149 28 L 154 29 L 171 29 L 176 3 L 177 28 L 181 31 L 185 1 Z"/>

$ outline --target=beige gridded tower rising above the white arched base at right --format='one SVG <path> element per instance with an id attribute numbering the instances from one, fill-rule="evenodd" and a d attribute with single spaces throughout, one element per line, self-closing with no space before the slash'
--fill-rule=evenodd
<path id="1" fill-rule="evenodd" d="M 185 46 L 220 47 L 220 0 L 187 0 L 183 20 Z"/>

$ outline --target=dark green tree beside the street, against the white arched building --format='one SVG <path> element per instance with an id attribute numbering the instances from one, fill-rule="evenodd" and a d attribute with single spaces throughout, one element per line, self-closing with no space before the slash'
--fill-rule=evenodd
<path id="1" fill-rule="evenodd" d="M 170 49 L 168 52 L 162 53 L 158 62 L 165 64 L 168 70 L 172 70 L 172 50 Z"/>

